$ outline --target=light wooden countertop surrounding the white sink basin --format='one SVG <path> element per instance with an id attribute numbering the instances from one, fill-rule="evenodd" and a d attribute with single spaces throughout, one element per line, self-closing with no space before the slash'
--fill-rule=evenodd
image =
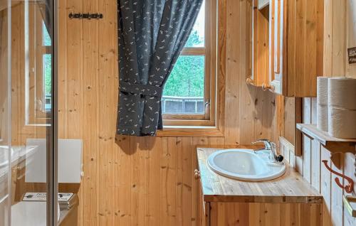
<path id="1" fill-rule="evenodd" d="M 252 146 L 239 146 L 251 149 Z M 322 203 L 323 196 L 287 165 L 286 173 L 272 181 L 246 182 L 220 176 L 206 160 L 214 151 L 228 148 L 197 147 L 202 193 L 205 202 L 236 203 Z"/>

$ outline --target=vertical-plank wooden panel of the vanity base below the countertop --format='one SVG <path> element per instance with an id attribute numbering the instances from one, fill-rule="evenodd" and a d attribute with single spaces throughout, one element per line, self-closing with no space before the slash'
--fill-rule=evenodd
<path id="1" fill-rule="evenodd" d="M 210 225 L 321 225 L 319 203 L 210 203 Z"/>

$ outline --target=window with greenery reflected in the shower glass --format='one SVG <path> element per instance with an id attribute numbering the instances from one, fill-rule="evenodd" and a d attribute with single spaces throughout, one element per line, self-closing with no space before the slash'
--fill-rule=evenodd
<path id="1" fill-rule="evenodd" d="M 24 12 L 25 123 L 46 125 L 52 92 L 51 37 L 43 21 L 46 11 L 38 4 L 28 4 Z"/>

